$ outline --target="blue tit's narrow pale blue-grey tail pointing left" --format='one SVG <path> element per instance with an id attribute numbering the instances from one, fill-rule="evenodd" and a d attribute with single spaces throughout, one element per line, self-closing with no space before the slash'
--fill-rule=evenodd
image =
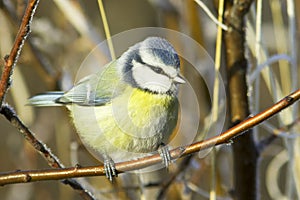
<path id="1" fill-rule="evenodd" d="M 64 92 L 54 91 L 38 94 L 28 99 L 30 106 L 63 106 L 58 100 L 64 95 Z"/>

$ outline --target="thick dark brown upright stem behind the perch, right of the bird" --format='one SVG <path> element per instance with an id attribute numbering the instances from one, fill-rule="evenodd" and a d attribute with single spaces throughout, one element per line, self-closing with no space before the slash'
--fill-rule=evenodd
<path id="1" fill-rule="evenodd" d="M 248 102 L 248 68 L 245 57 L 245 16 L 253 0 L 226 1 L 224 32 L 230 126 L 243 121 L 250 115 Z M 248 133 L 249 132 L 249 133 Z M 252 134 L 239 137 L 232 145 L 234 161 L 234 196 L 236 199 L 258 198 L 258 157 L 259 151 Z M 246 187 L 247 186 L 247 187 Z"/>

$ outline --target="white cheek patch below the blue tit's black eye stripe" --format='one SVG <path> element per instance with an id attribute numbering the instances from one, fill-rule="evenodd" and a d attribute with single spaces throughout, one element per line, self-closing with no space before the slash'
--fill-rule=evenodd
<path id="1" fill-rule="evenodd" d="M 167 92 L 172 85 L 169 77 L 157 74 L 149 67 L 138 63 L 132 68 L 132 75 L 140 87 L 155 92 Z"/>

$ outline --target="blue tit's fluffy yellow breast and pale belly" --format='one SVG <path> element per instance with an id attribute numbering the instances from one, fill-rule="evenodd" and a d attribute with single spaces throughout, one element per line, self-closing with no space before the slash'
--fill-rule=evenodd
<path id="1" fill-rule="evenodd" d="M 152 152 L 169 137 L 177 123 L 175 97 L 136 88 L 127 88 L 105 106 L 75 107 L 73 113 L 78 114 L 73 114 L 74 124 L 83 140 L 107 154 L 118 150 Z"/>

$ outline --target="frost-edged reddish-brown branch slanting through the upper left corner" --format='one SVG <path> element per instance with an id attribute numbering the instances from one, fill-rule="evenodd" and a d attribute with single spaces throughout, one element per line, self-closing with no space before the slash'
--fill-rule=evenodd
<path id="1" fill-rule="evenodd" d="M 30 24 L 38 3 L 39 0 L 30 0 L 28 2 L 14 45 L 10 51 L 10 54 L 5 57 L 5 66 L 0 80 L 0 107 L 3 104 L 7 90 L 11 85 L 11 75 L 19 59 L 24 42 L 30 33 Z"/>

